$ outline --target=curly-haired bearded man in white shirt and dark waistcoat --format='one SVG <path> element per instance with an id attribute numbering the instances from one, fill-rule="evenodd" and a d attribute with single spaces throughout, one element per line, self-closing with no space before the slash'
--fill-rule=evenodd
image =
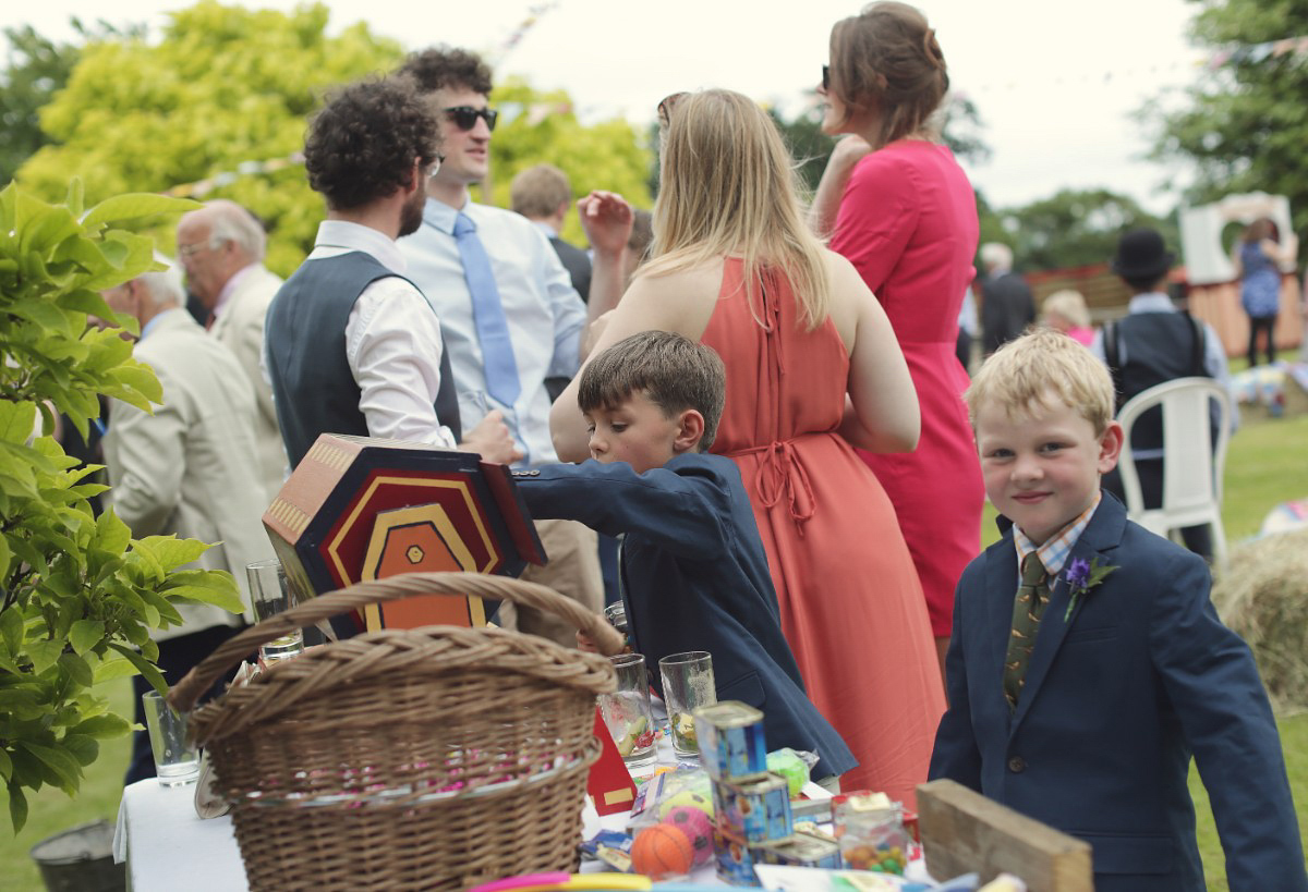
<path id="1" fill-rule="evenodd" d="M 462 445 L 441 323 L 404 277 L 395 239 L 422 222 L 439 133 L 404 78 L 339 90 L 305 137 L 327 200 L 314 250 L 268 309 L 266 354 L 290 467 L 322 433 L 388 437 L 515 458 L 500 413 Z"/>

